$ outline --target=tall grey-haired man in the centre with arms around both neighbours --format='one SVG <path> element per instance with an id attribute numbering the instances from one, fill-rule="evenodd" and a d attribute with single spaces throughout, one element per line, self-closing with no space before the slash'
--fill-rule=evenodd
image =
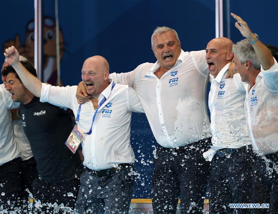
<path id="1" fill-rule="evenodd" d="M 211 142 L 206 52 L 184 52 L 177 32 L 168 27 L 154 30 L 152 51 L 156 63 L 143 63 L 110 78 L 136 90 L 158 142 L 153 159 L 154 213 L 176 213 L 179 196 L 181 213 L 201 212 L 210 171 L 203 151 Z"/>

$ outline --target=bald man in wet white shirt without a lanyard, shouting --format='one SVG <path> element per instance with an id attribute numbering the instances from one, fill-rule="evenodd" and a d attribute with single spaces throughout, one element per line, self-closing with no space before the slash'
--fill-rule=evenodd
<path id="1" fill-rule="evenodd" d="M 204 152 L 204 157 L 212 164 L 208 179 L 212 213 L 246 213 L 246 209 L 230 209 L 229 203 L 249 203 L 251 196 L 253 152 L 244 115 L 245 92 L 227 78 L 232 47 L 233 42 L 225 37 L 211 40 L 206 47 L 212 148 Z"/>

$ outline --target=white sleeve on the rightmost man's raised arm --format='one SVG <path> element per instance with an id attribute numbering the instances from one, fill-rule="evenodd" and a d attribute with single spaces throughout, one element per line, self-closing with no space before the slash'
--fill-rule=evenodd
<path id="1" fill-rule="evenodd" d="M 261 66 L 261 71 L 263 72 L 264 86 L 272 92 L 278 92 L 278 63 L 275 58 L 273 59 L 274 65 L 266 71 Z"/>

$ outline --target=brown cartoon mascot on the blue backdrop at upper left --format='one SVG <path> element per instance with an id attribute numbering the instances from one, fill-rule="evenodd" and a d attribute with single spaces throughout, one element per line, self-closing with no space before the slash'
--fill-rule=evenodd
<path id="1" fill-rule="evenodd" d="M 27 58 L 34 65 L 34 28 L 35 22 L 31 20 L 26 26 L 25 45 L 21 44 L 19 35 L 16 34 L 15 40 L 10 39 L 3 44 L 3 52 L 5 52 L 6 48 L 14 45 L 19 54 Z M 44 17 L 43 35 L 43 81 L 51 85 L 57 85 L 56 26 L 55 20 L 48 16 Z M 61 61 L 65 50 L 64 36 L 61 28 L 59 28 L 59 48 Z M 60 86 L 62 86 L 62 82 Z"/>

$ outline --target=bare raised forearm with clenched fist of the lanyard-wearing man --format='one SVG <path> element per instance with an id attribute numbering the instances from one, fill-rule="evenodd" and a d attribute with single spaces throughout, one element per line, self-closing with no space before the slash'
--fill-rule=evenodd
<path id="1" fill-rule="evenodd" d="M 15 46 L 6 48 L 4 56 L 6 57 L 6 62 L 15 69 L 24 86 L 35 96 L 41 97 L 41 81 L 27 71 L 27 69 L 19 62 L 19 53 Z"/>

